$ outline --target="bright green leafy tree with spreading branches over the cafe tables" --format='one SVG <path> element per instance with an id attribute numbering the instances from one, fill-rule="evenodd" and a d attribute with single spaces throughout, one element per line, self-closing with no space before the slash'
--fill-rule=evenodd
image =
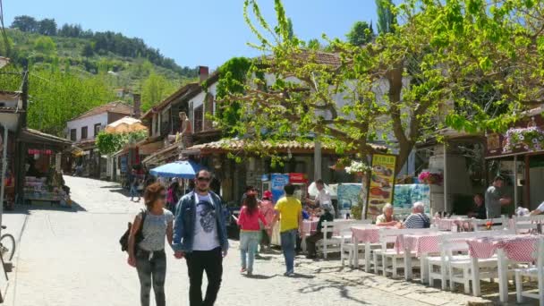
<path id="1" fill-rule="evenodd" d="M 364 47 L 330 40 L 334 54 L 290 38 L 282 2 L 275 2 L 275 26 L 254 0 L 244 2 L 257 38 L 252 46 L 265 54 L 251 73 L 273 80 L 249 81 L 221 101 L 240 107 L 235 130 L 256 146 L 315 137 L 365 157 L 379 142 L 398 153 L 398 171 L 417 141 L 439 137 L 445 127 L 505 129 L 523 109 L 544 102 L 538 1 L 406 0 L 390 8 L 400 20 L 388 21 L 392 29 L 380 28 Z"/>

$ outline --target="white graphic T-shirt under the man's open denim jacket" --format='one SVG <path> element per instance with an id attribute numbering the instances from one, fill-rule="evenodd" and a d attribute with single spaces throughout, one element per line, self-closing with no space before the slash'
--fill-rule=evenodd
<path id="1" fill-rule="evenodd" d="M 216 204 L 211 200 L 209 194 L 202 196 L 195 193 L 194 196 L 197 202 L 197 217 L 194 225 L 192 250 L 214 250 L 220 245 L 217 235 Z"/>

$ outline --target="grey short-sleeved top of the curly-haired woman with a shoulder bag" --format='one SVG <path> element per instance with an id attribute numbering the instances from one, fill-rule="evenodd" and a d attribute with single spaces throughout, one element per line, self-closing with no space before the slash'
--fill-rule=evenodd
<path id="1" fill-rule="evenodd" d="M 139 214 L 140 218 L 142 213 Z M 161 251 L 165 249 L 166 228 L 168 223 L 174 220 L 174 215 L 170 210 L 163 208 L 162 215 L 153 215 L 146 213 L 146 217 L 141 227 L 143 240 L 138 245 L 145 251 Z"/>

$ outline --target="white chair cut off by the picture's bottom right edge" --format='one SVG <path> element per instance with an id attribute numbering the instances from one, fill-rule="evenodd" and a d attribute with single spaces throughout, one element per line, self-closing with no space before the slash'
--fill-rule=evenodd
<path id="1" fill-rule="evenodd" d="M 523 297 L 539 299 L 540 306 L 544 306 L 544 238 L 540 237 L 535 248 L 536 253 L 533 253 L 533 259 L 537 259 L 536 267 L 517 268 L 515 272 L 515 295 L 518 303 L 523 302 Z M 522 276 L 537 279 L 539 293 L 530 293 L 523 291 Z"/>

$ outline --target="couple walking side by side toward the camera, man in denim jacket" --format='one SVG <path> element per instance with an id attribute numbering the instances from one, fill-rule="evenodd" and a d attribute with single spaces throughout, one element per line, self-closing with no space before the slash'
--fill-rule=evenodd
<path id="1" fill-rule="evenodd" d="M 140 302 L 149 305 L 151 287 L 157 306 L 166 305 L 166 241 L 176 259 L 185 259 L 189 274 L 191 306 L 211 306 L 216 302 L 223 258 L 228 251 L 225 218 L 221 199 L 209 191 L 211 174 L 197 174 L 195 190 L 183 196 L 175 217 L 166 209 L 168 194 L 160 183 L 152 183 L 144 192 L 146 208 L 135 218 L 129 235 L 128 263 L 138 270 Z M 208 288 L 202 297 L 202 276 L 206 272 Z"/>

